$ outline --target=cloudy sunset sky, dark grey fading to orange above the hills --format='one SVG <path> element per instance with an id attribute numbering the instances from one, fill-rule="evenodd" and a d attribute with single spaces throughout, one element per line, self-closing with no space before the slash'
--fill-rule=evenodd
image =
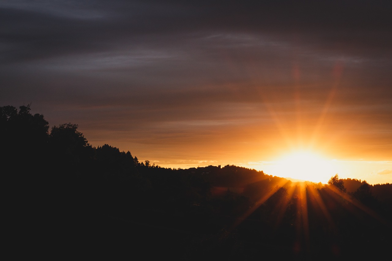
<path id="1" fill-rule="evenodd" d="M 379 0 L 3 0 L 0 106 L 31 104 L 51 127 L 78 124 L 94 147 L 162 167 L 392 183 L 391 11 Z"/>

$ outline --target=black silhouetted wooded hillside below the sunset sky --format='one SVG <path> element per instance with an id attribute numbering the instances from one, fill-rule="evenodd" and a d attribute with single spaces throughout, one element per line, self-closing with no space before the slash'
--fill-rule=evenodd
<path id="1" fill-rule="evenodd" d="M 14 257 L 390 260 L 392 184 L 292 182 L 92 147 L 78 125 L 0 107 L 4 226 Z"/>

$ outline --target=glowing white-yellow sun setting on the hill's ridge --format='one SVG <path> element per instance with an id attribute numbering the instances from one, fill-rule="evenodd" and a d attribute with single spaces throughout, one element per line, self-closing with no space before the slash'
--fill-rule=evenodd
<path id="1" fill-rule="evenodd" d="M 335 163 L 332 159 L 310 150 L 296 150 L 274 161 L 271 173 L 283 178 L 294 178 L 327 183 L 333 176 Z M 273 172 L 273 173 L 272 173 Z"/>

